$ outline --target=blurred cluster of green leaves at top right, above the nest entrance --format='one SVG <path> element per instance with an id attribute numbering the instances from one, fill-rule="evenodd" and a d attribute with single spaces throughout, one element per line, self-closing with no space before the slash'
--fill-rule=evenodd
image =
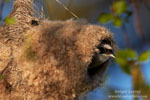
<path id="1" fill-rule="evenodd" d="M 125 0 L 116 0 L 110 8 L 110 13 L 102 13 L 99 16 L 99 22 L 102 24 L 112 21 L 114 26 L 121 27 L 132 15 Z"/>

